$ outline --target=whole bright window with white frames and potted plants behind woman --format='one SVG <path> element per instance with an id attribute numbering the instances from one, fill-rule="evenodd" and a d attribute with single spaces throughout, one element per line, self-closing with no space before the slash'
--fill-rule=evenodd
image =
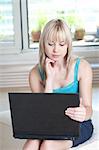
<path id="1" fill-rule="evenodd" d="M 0 0 L 0 54 L 37 52 L 41 31 L 53 18 L 69 25 L 75 52 L 99 55 L 98 0 Z"/>

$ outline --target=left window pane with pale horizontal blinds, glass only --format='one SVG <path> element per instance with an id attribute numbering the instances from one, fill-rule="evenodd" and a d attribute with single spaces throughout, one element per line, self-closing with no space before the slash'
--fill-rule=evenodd
<path id="1" fill-rule="evenodd" d="M 0 44 L 14 44 L 12 0 L 0 0 Z"/>

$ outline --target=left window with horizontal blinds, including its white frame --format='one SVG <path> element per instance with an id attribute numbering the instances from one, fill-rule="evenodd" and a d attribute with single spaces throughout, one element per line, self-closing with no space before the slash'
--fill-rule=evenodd
<path id="1" fill-rule="evenodd" d="M 0 0 L 0 53 L 21 49 L 20 5 L 13 0 Z"/>

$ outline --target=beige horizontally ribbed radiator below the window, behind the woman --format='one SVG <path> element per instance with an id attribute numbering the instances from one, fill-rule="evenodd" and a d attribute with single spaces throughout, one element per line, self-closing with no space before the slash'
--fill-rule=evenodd
<path id="1" fill-rule="evenodd" d="M 6 65 L 0 68 L 0 88 L 29 87 L 29 71 L 33 65 Z M 93 84 L 99 84 L 99 64 L 92 64 Z"/>

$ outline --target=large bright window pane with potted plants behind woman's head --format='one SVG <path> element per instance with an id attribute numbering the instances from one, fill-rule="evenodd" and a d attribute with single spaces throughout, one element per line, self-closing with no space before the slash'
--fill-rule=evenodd
<path id="1" fill-rule="evenodd" d="M 27 5 L 30 48 L 38 47 L 40 31 L 53 18 L 67 22 L 74 46 L 99 45 L 98 0 L 27 0 Z"/>

